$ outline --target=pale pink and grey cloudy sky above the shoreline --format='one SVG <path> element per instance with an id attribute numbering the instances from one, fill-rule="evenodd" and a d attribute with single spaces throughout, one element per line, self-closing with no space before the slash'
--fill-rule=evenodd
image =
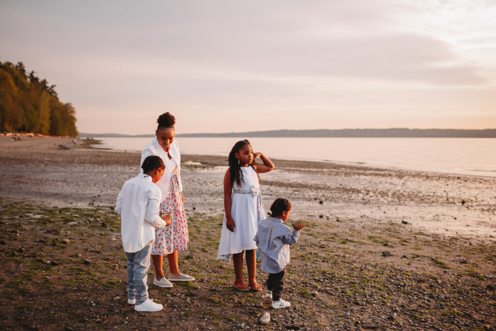
<path id="1" fill-rule="evenodd" d="M 496 0 L 0 0 L 80 132 L 496 128 Z"/>

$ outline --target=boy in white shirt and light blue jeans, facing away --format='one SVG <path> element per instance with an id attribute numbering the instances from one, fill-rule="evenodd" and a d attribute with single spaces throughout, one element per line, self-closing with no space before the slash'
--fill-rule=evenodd
<path id="1" fill-rule="evenodd" d="M 135 304 L 136 311 L 157 312 L 163 306 L 148 299 L 146 278 L 155 226 L 163 228 L 171 224 L 167 216 L 164 220 L 159 215 L 162 193 L 154 184 L 164 174 L 165 165 L 159 156 L 148 156 L 141 168 L 143 173 L 124 183 L 115 210 L 121 216 L 121 234 L 127 257 L 127 303 Z"/>

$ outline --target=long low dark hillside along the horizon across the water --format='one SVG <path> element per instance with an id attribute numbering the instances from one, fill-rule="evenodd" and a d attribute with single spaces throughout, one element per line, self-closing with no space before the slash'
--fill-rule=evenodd
<path id="1" fill-rule="evenodd" d="M 154 134 L 81 133 L 82 137 L 153 137 Z M 496 129 L 340 129 L 272 130 L 229 133 L 182 133 L 177 137 L 362 137 L 362 138 L 496 138 Z"/>

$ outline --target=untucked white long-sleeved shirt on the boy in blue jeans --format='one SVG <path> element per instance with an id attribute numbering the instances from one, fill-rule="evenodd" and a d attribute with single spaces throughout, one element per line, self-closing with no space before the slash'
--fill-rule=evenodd
<path id="1" fill-rule="evenodd" d="M 155 240 L 155 226 L 163 228 L 160 217 L 162 193 L 145 174 L 127 180 L 117 197 L 116 212 L 121 216 L 124 252 L 134 253 Z"/>

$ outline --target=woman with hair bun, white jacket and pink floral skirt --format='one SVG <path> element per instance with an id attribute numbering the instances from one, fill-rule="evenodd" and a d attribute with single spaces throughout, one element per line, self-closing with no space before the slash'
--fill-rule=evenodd
<path id="1" fill-rule="evenodd" d="M 172 287 L 171 280 L 191 281 L 194 278 L 181 273 L 178 265 L 178 250 L 187 250 L 189 237 L 181 184 L 181 155 L 178 142 L 174 140 L 176 119 L 167 112 L 159 116 L 157 123 L 155 137 L 141 152 L 141 162 L 147 156 L 157 155 L 165 164 L 165 173 L 156 185 L 162 191 L 160 212 L 172 212 L 172 222 L 165 228 L 155 228 L 151 256 L 156 273 L 153 283 L 160 287 Z M 162 266 L 164 255 L 169 260 L 169 279 L 165 277 Z"/>

